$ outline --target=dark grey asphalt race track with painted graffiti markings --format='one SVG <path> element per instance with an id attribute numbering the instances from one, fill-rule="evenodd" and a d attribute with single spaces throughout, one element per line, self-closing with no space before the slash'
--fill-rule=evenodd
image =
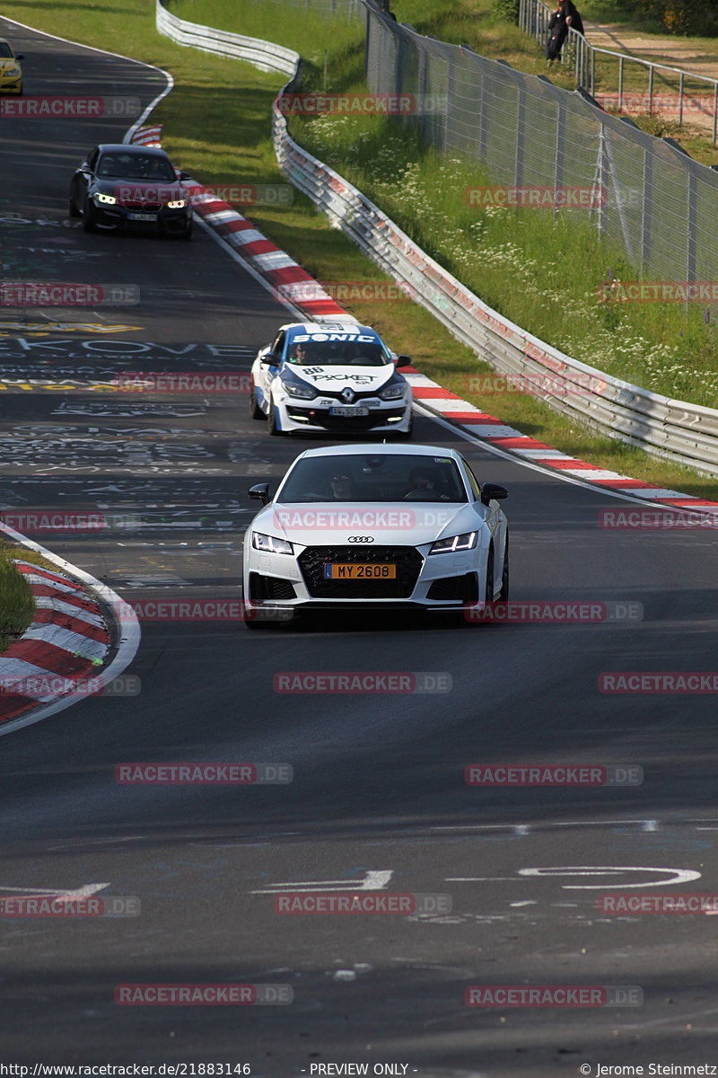
<path id="1" fill-rule="evenodd" d="M 147 68 L 2 19 L 0 34 L 27 56 L 29 94 L 144 106 L 163 86 Z M 247 372 L 287 320 L 202 229 L 183 245 L 86 235 L 68 219 L 73 168 L 131 119 L 2 124 L 2 278 L 132 284 L 140 302 L 3 308 L 0 378 L 31 388 L 0 397 L 0 507 L 139 520 L 31 535 L 129 603 L 236 599 L 248 488 L 319 443 L 270 439 L 245 393 L 91 388 L 128 370 Z M 423 1078 L 718 1063 L 718 922 L 597 902 L 718 893 L 715 695 L 597 687 L 603 672 L 715 669 L 713 534 L 601 528 L 602 510 L 629 503 L 426 415 L 414 431 L 509 488 L 513 598 L 640 604 L 643 619 L 252 633 L 224 619 L 143 621 L 127 672 L 139 695 L 82 701 L 0 741 L 0 895 L 85 888 L 141 902 L 131 917 L 1 918 L 0 1062 L 213 1062 L 270 1078 L 348 1063 Z M 283 672 L 433 672 L 451 691 L 282 693 Z M 133 761 L 291 764 L 293 782 L 117 783 L 115 766 Z M 537 763 L 640 766 L 644 782 L 464 782 L 468 764 Z M 274 912 L 286 892 L 337 890 L 448 895 L 451 910 Z M 118 984 L 180 982 L 285 984 L 293 1003 L 114 1000 Z M 470 985 L 635 986 L 643 1003 L 478 1008 L 464 1003 Z"/>

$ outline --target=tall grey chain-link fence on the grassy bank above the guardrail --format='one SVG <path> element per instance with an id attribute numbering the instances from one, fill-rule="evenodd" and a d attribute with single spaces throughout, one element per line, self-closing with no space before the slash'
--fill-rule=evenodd
<path id="1" fill-rule="evenodd" d="M 493 183 L 597 192 L 590 208 L 562 212 L 588 215 L 644 276 L 718 281 L 718 172 L 603 112 L 583 91 L 422 37 L 374 0 L 365 6 L 369 88 L 416 96 L 409 119 L 424 141 L 479 162 Z"/>

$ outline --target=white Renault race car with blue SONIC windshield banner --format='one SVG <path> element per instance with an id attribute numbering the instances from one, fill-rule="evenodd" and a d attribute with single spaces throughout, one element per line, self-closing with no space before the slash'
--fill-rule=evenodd
<path id="1" fill-rule="evenodd" d="M 293 322 L 252 364 L 250 409 L 269 433 L 376 431 L 411 434 L 411 387 L 379 334 L 355 322 Z"/>

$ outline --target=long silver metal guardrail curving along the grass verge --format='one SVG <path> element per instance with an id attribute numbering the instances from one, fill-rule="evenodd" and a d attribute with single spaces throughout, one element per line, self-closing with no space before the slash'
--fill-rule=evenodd
<path id="1" fill-rule="evenodd" d="M 271 42 L 184 23 L 168 15 L 160 0 L 156 2 L 157 28 L 172 40 L 192 34 L 205 42 L 219 43 L 216 49 L 208 51 L 222 51 L 242 59 L 249 58 L 244 52 L 244 43 L 249 41 L 265 69 L 271 60 L 273 69 L 280 70 L 278 57 L 281 54 L 286 59 L 291 54 Z M 281 70 L 290 72 L 292 80 L 280 97 L 296 78 L 299 56 L 291 55 L 292 64 Z M 535 396 L 557 412 L 647 453 L 718 475 L 718 410 L 671 400 L 604 374 L 510 322 L 422 251 L 361 191 L 302 150 L 290 136 L 286 118 L 277 100 L 272 112 L 274 151 L 287 179 L 386 274 L 410 285 L 417 300 L 480 359 L 502 374 L 524 376 L 530 385 L 555 387 L 554 392 L 545 389 Z M 590 390 L 588 386 L 593 385 L 599 388 Z"/>

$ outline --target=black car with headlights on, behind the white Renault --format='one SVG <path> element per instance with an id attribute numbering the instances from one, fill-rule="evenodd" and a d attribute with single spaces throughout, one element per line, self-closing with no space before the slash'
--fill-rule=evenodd
<path id="1" fill-rule="evenodd" d="M 72 177 L 70 217 L 85 232 L 136 229 L 188 239 L 192 199 L 164 150 L 146 146 L 96 146 Z"/>

